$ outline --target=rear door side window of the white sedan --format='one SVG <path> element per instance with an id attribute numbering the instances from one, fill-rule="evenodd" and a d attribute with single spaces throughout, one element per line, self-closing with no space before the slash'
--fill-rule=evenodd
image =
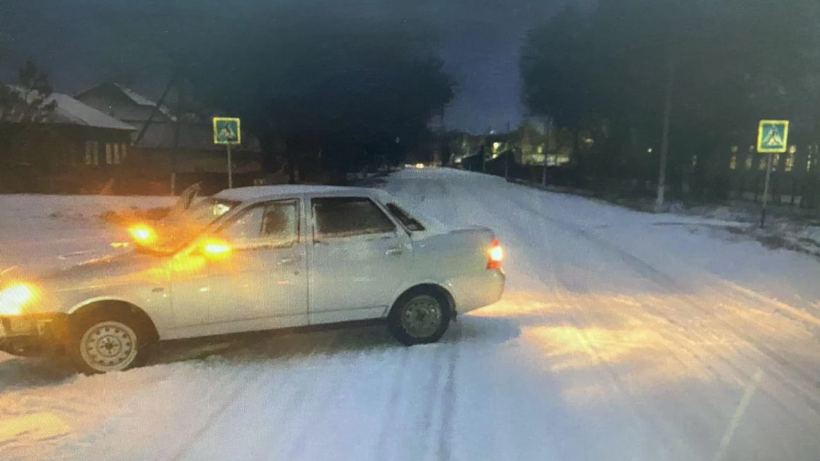
<path id="1" fill-rule="evenodd" d="M 366 197 L 325 197 L 311 200 L 314 238 L 341 238 L 395 232 L 396 225 Z"/>

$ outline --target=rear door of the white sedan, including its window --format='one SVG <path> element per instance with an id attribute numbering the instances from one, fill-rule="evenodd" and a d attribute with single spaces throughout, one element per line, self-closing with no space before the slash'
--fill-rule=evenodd
<path id="1" fill-rule="evenodd" d="M 312 197 L 310 209 L 310 323 L 384 315 L 410 270 L 410 237 L 369 197 Z"/>

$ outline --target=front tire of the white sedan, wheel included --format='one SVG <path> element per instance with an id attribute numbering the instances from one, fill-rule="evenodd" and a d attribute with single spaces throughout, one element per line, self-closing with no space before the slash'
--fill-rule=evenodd
<path id="1" fill-rule="evenodd" d="M 74 319 L 67 352 L 86 375 L 125 371 L 145 362 L 145 337 L 135 316 L 97 310 Z"/>

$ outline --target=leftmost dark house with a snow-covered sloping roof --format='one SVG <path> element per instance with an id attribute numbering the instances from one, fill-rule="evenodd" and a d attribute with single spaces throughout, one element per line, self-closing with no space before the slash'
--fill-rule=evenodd
<path id="1" fill-rule="evenodd" d="M 55 108 L 43 121 L 0 123 L 3 192 L 50 192 L 66 175 L 107 176 L 129 155 L 133 126 L 66 94 L 46 102 Z"/>

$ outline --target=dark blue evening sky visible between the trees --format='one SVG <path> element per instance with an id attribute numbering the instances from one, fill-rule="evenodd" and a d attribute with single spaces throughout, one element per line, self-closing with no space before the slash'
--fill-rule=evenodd
<path id="1" fill-rule="evenodd" d="M 0 62 L 34 57 L 46 67 L 55 89 L 74 93 L 106 77 L 106 37 L 116 33 L 96 24 L 84 8 L 100 0 L 0 0 Z M 109 3 L 139 0 L 106 0 Z M 276 1 L 276 0 L 271 0 Z M 328 0 L 336 1 L 336 0 Z M 365 2 L 368 0 L 359 0 Z M 373 0 L 378 1 L 378 0 Z M 526 29 L 546 20 L 563 0 L 417 0 L 415 13 L 441 31 L 441 56 L 455 78 L 456 99 L 445 114 L 448 128 L 483 132 L 518 125 L 518 51 Z M 393 2 L 369 5 L 374 14 Z M 226 2 L 230 5 L 230 2 Z M 9 12 L 12 12 L 9 14 Z M 393 11 L 392 13 L 395 13 Z M 146 96 L 161 90 L 152 82 L 135 84 Z"/>

